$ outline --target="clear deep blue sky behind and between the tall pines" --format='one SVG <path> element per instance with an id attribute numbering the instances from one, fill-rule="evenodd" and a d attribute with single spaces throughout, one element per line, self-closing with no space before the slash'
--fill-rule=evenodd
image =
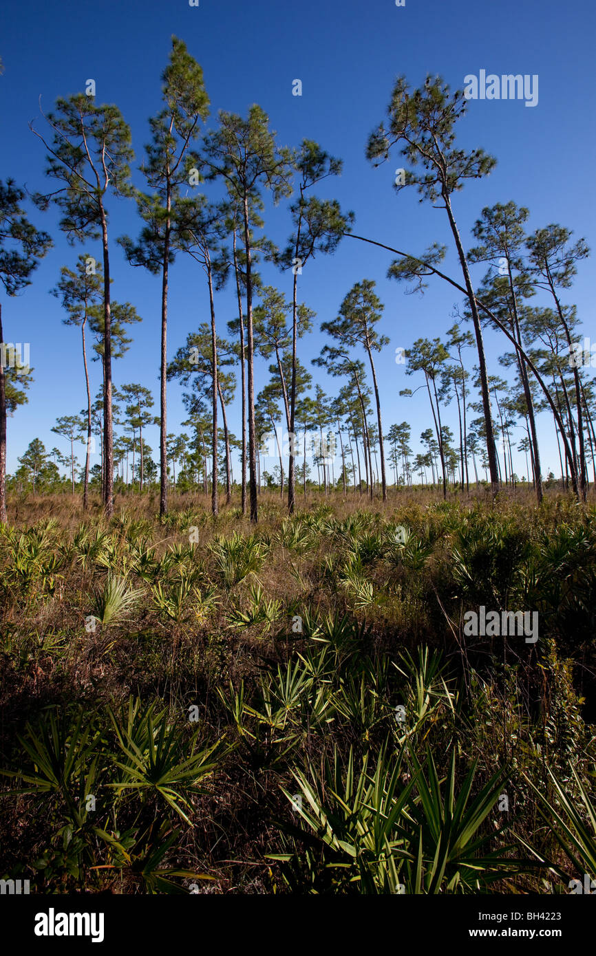
<path id="1" fill-rule="evenodd" d="M 476 4 L 452 0 L 406 0 L 398 8 L 393 0 L 302 0 L 300 4 L 275 0 L 215 2 L 187 0 L 158 3 L 145 0 L 61 0 L 27 5 L 4 0 L 0 14 L 0 55 L 5 73 L 0 77 L 2 157 L 0 177 L 13 177 L 34 190 L 49 191 L 43 175 L 44 149 L 29 130 L 35 120 L 46 132 L 38 101 L 51 110 L 56 97 L 84 90 L 85 81 L 97 83 L 97 101 L 114 102 L 132 130 L 136 152 L 134 181 L 143 187 L 136 166 L 148 140 L 147 119 L 161 106 L 160 75 L 166 65 L 171 35 L 188 45 L 202 65 L 211 101 L 208 126 L 218 109 L 245 115 L 257 102 L 265 109 L 282 144 L 298 146 L 302 138 L 343 160 L 341 179 L 327 181 L 321 196 L 336 197 L 356 215 L 354 231 L 399 249 L 419 252 L 433 241 L 445 242 L 450 252 L 445 263 L 458 281 L 451 235 L 445 213 L 419 205 L 417 194 L 396 195 L 392 183 L 395 162 L 373 168 L 364 158 L 372 128 L 385 117 L 392 83 L 398 74 L 419 85 L 427 72 L 439 73 L 453 86 L 462 87 L 464 76 L 487 73 L 538 74 L 540 97 L 536 107 L 521 100 L 477 100 L 459 124 L 462 145 L 482 146 L 497 157 L 497 168 L 488 178 L 466 185 L 453 200 L 458 226 L 467 248 L 474 244 L 470 229 L 483 206 L 515 200 L 528 206 L 533 230 L 550 222 L 572 228 L 594 245 L 594 97 L 593 48 L 596 15 L 589 0 L 503 0 Z M 302 81 L 302 96 L 292 95 L 295 78 Z M 213 193 L 215 195 L 216 193 Z M 84 404 L 84 379 L 77 330 L 64 326 L 59 301 L 49 294 L 60 267 L 73 266 L 82 247 L 69 247 L 57 228 L 55 211 L 31 210 L 36 225 L 46 228 L 55 247 L 46 256 L 33 284 L 17 298 L 2 299 L 7 341 L 30 342 L 34 368 L 29 403 L 9 421 L 9 471 L 17 465 L 33 437 L 47 448 L 67 450 L 51 432 L 55 419 L 77 414 Z M 139 220 L 131 201 L 110 202 L 113 295 L 134 304 L 143 323 L 132 330 L 134 341 L 126 356 L 115 363 L 114 381 L 139 381 L 152 389 L 158 402 L 160 282 L 140 269 L 129 267 L 116 238 L 136 236 Z M 287 206 L 266 207 L 265 231 L 282 245 L 290 230 Z M 85 250 L 100 258 L 99 244 Z M 404 387 L 418 382 L 407 378 L 403 365 L 395 364 L 395 349 L 408 347 L 420 336 L 444 337 L 453 324 L 453 289 L 431 281 L 424 296 L 405 295 L 404 288 L 386 279 L 391 255 L 384 250 L 344 239 L 333 257 L 309 264 L 299 281 L 299 295 L 318 314 L 313 335 L 300 343 L 300 359 L 314 380 L 329 392 L 340 382 L 310 366 L 320 353 L 322 321 L 337 315 L 342 298 L 364 278 L 377 282 L 385 303 L 380 331 L 390 344 L 377 359 L 385 431 L 392 423 L 408 421 L 412 446 L 420 450 L 418 436 L 430 425 L 424 393 L 400 398 Z M 484 269 L 477 267 L 475 278 Z M 265 281 L 291 294 L 291 275 L 263 270 Z M 591 262 L 581 264 L 565 301 L 578 305 L 585 335 L 596 340 L 593 318 L 594 283 Z M 542 301 L 542 300 L 541 300 Z M 545 302 L 545 300 L 544 300 Z M 539 304 L 537 296 L 533 304 Z M 216 302 L 221 334 L 234 316 L 232 287 Z M 169 355 L 184 343 L 189 331 L 209 317 L 209 298 L 202 272 L 191 261 L 179 259 L 171 273 L 169 304 Z M 486 333 L 489 371 L 505 376 L 497 356 L 505 351 L 502 337 Z M 94 394 L 99 388 L 99 363 L 92 365 Z M 266 363 L 256 372 L 257 389 L 267 376 Z M 169 388 L 168 431 L 179 430 L 186 418 L 182 390 Z M 239 434 L 239 398 L 230 409 L 232 430 Z M 455 409 L 446 414 L 454 430 Z M 519 436 L 521 437 L 521 432 Z M 558 470 L 558 454 L 550 416 L 540 420 L 542 466 Z M 157 459 L 157 429 L 147 439 Z M 79 456 L 82 458 L 82 445 Z M 97 459 L 99 461 L 99 459 Z M 519 475 L 525 473 L 521 457 Z M 237 469 L 236 469 L 237 473 Z"/>

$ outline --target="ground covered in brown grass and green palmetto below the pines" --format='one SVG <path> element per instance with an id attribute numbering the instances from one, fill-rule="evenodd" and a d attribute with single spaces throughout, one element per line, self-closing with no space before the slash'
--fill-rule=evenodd
<path id="1" fill-rule="evenodd" d="M 222 495 L 222 501 L 225 496 Z M 12 498 L 0 877 L 568 892 L 596 867 L 596 502 Z M 482 610 L 484 609 L 484 610 Z M 491 611 L 529 632 L 470 633 Z M 475 617 L 476 616 L 476 617 Z M 482 633 L 484 631 L 484 633 Z M 488 633 L 487 633 L 488 632 Z"/>

